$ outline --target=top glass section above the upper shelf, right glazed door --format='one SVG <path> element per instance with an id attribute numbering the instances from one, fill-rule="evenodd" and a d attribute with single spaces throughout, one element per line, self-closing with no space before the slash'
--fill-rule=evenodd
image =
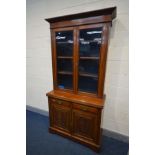
<path id="1" fill-rule="evenodd" d="M 102 28 L 80 30 L 80 56 L 99 56 Z"/>

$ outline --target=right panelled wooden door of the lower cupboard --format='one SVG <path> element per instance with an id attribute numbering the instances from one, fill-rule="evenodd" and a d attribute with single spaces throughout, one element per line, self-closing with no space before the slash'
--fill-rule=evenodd
<path id="1" fill-rule="evenodd" d="M 73 109 L 72 119 L 73 136 L 96 142 L 97 116 L 95 114 Z"/>

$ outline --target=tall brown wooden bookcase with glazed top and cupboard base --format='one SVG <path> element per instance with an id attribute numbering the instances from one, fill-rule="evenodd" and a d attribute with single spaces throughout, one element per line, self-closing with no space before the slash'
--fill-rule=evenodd
<path id="1" fill-rule="evenodd" d="M 48 18 L 53 90 L 49 131 L 99 151 L 106 59 L 116 7 Z"/>

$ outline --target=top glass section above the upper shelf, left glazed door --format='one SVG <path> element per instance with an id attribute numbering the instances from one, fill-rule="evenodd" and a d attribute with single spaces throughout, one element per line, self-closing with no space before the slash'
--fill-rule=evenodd
<path id="1" fill-rule="evenodd" d="M 57 56 L 73 55 L 73 31 L 56 32 Z"/>

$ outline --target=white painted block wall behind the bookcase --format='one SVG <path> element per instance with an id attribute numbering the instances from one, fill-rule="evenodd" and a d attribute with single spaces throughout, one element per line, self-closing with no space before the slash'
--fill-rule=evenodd
<path id="1" fill-rule="evenodd" d="M 48 110 L 53 89 L 50 30 L 45 18 L 117 6 L 108 52 L 103 128 L 128 135 L 128 0 L 27 0 L 27 105 Z"/>

